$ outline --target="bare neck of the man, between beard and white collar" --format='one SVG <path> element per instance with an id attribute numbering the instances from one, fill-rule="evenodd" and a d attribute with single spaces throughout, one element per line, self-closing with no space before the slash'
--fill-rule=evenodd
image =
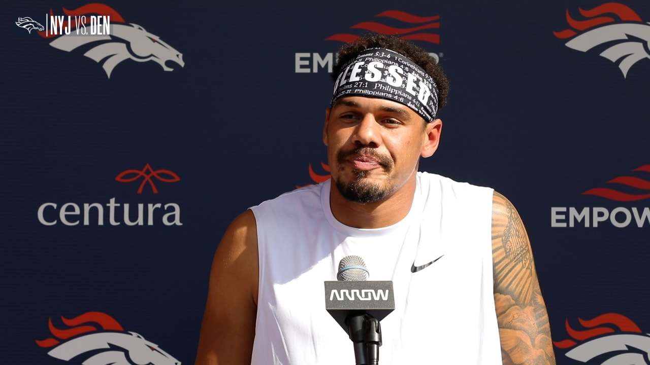
<path id="1" fill-rule="evenodd" d="M 331 214 L 337 221 L 354 228 L 382 228 L 404 219 L 413 205 L 415 177 L 397 188 L 389 197 L 374 203 L 355 203 L 341 195 L 336 183 L 330 186 Z"/>

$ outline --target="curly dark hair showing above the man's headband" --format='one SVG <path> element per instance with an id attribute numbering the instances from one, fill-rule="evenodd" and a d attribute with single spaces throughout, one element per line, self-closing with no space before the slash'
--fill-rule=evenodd
<path id="1" fill-rule="evenodd" d="M 438 88 L 438 112 L 447 105 L 449 94 L 449 81 L 443 72 L 443 68 L 435 62 L 435 59 L 427 51 L 396 36 L 384 34 L 367 34 L 353 43 L 344 44 L 339 49 L 339 57 L 331 73 L 333 81 L 339 77 L 344 64 L 356 57 L 359 53 L 369 48 L 385 48 L 395 51 L 400 55 L 408 57 L 411 61 L 420 66 L 430 75 Z"/>

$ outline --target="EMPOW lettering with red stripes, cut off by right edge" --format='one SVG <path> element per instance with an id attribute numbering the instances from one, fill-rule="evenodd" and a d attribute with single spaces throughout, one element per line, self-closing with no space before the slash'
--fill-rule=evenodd
<path id="1" fill-rule="evenodd" d="M 643 165 L 634 170 L 636 176 L 619 176 L 607 181 L 616 188 L 591 188 L 582 195 L 595 195 L 610 201 L 630 202 L 650 199 L 650 181 L 647 173 L 650 165 Z M 630 225 L 643 227 L 650 223 L 650 207 L 551 207 L 551 227 L 599 227 L 601 223 L 610 223 L 614 227 L 624 228 Z"/>

